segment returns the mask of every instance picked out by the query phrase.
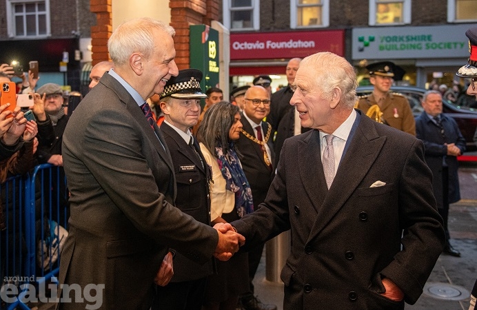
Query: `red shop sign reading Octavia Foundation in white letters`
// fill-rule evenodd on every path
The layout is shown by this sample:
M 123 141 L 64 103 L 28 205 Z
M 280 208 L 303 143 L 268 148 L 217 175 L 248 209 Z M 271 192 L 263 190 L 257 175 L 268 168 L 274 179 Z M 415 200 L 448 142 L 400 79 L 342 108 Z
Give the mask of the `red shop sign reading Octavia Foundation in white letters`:
M 344 42 L 344 30 L 230 34 L 230 59 L 290 59 L 316 52 L 344 56 Z

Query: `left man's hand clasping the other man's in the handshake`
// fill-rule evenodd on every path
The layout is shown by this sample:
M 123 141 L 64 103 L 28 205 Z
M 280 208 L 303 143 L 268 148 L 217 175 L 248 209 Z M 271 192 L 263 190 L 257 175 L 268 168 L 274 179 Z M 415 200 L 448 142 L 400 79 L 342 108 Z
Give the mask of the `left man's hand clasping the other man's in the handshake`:
M 229 223 L 218 223 L 214 225 L 214 228 L 219 234 L 214 257 L 219 260 L 229 260 L 236 251 L 239 251 L 239 247 L 245 244 L 245 237 L 236 233 Z

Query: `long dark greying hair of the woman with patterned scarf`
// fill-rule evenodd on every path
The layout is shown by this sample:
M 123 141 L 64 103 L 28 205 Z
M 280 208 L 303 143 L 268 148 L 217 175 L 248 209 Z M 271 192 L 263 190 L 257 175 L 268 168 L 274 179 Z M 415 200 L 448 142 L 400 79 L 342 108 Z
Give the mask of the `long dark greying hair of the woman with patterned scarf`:
M 229 131 L 239 113 L 239 107 L 228 101 L 220 101 L 205 111 L 197 130 L 197 141 L 203 143 L 210 154 L 215 156 L 215 147 L 221 144 L 224 154 L 229 149 Z

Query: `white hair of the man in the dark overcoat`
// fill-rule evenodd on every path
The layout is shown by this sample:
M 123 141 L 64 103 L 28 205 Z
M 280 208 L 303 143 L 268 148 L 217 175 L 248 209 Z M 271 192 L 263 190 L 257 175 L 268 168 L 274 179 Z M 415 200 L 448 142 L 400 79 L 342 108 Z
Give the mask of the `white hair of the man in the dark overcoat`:
M 347 107 L 354 107 L 356 97 L 356 70 L 346 59 L 331 52 L 320 52 L 307 56 L 300 67 L 312 67 L 316 70 L 314 85 L 323 92 L 324 99 L 331 99 L 333 90 L 341 90 L 341 102 Z

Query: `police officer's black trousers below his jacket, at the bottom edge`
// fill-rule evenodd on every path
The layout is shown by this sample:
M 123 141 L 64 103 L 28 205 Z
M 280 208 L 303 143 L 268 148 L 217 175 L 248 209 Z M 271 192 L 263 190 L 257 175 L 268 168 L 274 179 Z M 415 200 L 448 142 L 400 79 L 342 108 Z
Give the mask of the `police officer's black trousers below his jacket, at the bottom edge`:
M 201 310 L 206 283 L 207 278 L 201 278 L 170 282 L 165 287 L 156 286 L 157 293 L 151 309 Z

